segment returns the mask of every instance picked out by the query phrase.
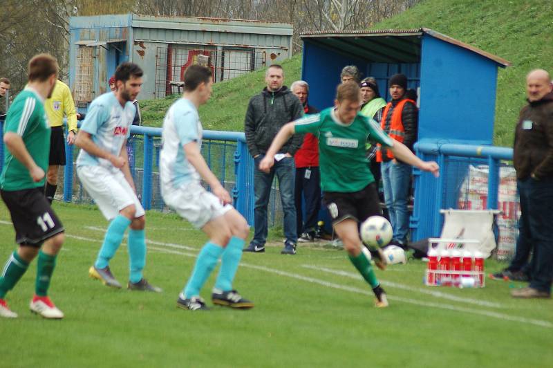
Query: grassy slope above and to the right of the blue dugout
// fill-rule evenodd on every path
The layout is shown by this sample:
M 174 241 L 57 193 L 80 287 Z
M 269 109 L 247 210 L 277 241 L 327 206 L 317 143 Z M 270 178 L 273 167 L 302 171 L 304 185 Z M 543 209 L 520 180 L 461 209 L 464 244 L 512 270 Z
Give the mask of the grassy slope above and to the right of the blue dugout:
M 552 25 L 550 0 L 426 0 L 375 28 L 424 26 L 512 62 L 499 71 L 494 131 L 495 144 L 510 147 L 526 73 L 553 72 Z

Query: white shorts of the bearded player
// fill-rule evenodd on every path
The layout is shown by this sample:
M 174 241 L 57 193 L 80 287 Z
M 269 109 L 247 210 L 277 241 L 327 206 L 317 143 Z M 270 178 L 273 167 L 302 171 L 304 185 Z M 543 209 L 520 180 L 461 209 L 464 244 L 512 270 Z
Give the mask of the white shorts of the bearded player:
M 144 208 L 131 185 L 120 170 L 111 171 L 102 166 L 77 167 L 82 186 L 91 195 L 108 221 L 115 219 L 120 210 L 134 205 L 134 217 L 144 216 Z

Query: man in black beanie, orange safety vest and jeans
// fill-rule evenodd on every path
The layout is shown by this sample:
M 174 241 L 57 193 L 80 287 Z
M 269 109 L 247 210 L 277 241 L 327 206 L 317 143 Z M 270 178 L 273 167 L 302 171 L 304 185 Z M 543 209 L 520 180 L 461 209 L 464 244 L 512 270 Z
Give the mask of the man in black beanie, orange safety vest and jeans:
M 415 101 L 405 97 L 407 77 L 395 74 L 390 78 L 389 86 L 392 100 L 384 108 L 380 127 L 386 134 L 413 151 L 413 145 L 417 140 L 418 109 Z M 409 233 L 407 204 L 411 166 L 395 158 L 389 149 L 382 146 L 377 152 L 377 161 L 381 163 L 384 202 L 393 228 L 391 243 L 405 248 Z

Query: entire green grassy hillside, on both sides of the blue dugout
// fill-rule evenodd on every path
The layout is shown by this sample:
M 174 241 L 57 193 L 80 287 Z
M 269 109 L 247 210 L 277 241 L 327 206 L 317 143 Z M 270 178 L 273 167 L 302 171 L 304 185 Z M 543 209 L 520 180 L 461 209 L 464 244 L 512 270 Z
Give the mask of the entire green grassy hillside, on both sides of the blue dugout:
M 525 103 L 525 74 L 538 67 L 553 71 L 552 4 L 550 0 L 426 0 L 373 28 L 433 28 L 512 62 L 499 71 L 495 129 L 496 145 L 511 146 L 512 126 Z M 289 82 L 299 78 L 301 55 L 283 66 Z M 216 84 L 212 100 L 200 109 L 205 129 L 242 131 L 247 101 L 262 88 L 263 71 Z M 147 124 L 160 126 L 173 100 L 144 102 Z

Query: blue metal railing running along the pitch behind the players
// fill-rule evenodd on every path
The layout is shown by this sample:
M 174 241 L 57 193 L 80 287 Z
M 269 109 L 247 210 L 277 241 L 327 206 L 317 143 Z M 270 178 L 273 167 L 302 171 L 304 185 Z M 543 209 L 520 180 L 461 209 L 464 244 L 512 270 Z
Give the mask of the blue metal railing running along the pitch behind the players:
M 3 122 L 0 121 L 3 128 Z M 165 210 L 159 193 L 158 164 L 160 128 L 131 127 L 133 159 L 129 159 L 131 173 L 144 208 Z M 0 129 L 0 169 L 3 165 L 3 129 Z M 501 160 L 512 160 L 513 150 L 506 147 L 460 145 L 455 143 L 418 142 L 418 156 L 435 160 L 441 168 L 440 178 L 415 169 L 415 206 L 411 217 L 411 239 L 418 241 L 440 234 L 443 224 L 441 209 L 457 208 L 462 182 L 467 178 L 469 165 L 488 165 L 486 207 L 498 207 L 499 168 Z M 63 179 L 63 200 L 81 202 L 86 197 L 75 177 L 75 148 L 66 145 L 66 166 Z M 234 207 L 248 223 L 254 224 L 254 160 L 250 156 L 243 133 L 227 131 L 203 132 L 203 156 L 207 164 L 232 194 Z M 75 195 L 75 190 L 78 194 Z M 273 187 L 268 214 L 269 223 L 280 223 L 281 210 L 277 204 L 277 190 Z

